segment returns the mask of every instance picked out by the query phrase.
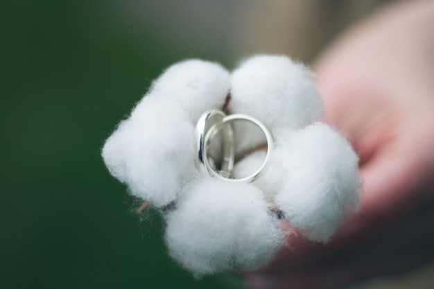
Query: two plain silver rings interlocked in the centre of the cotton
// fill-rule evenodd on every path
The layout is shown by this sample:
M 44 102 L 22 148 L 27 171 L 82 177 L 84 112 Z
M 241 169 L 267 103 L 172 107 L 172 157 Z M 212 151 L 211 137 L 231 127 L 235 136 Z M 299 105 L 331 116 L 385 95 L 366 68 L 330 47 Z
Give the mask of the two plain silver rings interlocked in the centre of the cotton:
M 236 155 L 236 141 L 232 126 L 235 121 L 247 121 L 257 125 L 265 135 L 267 142 L 267 153 L 261 166 L 250 175 L 241 178 L 235 178 L 232 174 Z M 211 141 L 217 135 L 220 136 L 219 150 L 221 153 L 213 157 L 210 155 Z M 196 164 L 205 168 L 209 175 L 229 182 L 253 182 L 260 177 L 268 165 L 273 150 L 272 136 L 266 126 L 254 117 L 245 114 L 226 115 L 220 110 L 209 110 L 200 116 L 194 137 L 197 152 Z

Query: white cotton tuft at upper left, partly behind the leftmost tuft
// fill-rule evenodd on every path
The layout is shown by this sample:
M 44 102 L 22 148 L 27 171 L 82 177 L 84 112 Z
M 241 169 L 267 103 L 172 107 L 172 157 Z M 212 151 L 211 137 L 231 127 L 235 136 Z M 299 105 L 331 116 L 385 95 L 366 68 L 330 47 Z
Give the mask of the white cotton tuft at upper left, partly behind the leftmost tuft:
M 151 87 L 150 96 L 179 103 L 196 124 L 207 110 L 223 108 L 229 94 L 230 76 L 220 64 L 186 60 L 172 65 Z

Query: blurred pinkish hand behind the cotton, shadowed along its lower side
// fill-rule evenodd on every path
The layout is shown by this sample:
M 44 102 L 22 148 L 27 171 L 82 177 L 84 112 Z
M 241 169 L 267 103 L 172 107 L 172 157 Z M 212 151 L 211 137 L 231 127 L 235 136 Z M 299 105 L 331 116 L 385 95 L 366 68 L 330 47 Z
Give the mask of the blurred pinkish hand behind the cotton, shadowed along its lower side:
M 255 288 L 336 288 L 434 259 L 434 1 L 386 6 L 313 67 L 324 121 L 361 158 L 361 209 L 327 244 L 295 231 Z

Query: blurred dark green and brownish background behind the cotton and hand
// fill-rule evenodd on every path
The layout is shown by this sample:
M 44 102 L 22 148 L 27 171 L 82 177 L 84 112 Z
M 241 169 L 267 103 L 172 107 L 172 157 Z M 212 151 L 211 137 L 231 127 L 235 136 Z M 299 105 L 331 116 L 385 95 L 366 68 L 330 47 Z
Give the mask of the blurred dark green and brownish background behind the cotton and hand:
M 0 288 L 241 288 L 173 262 L 155 211 L 100 150 L 173 62 L 252 53 L 311 63 L 385 1 L 0 3 Z

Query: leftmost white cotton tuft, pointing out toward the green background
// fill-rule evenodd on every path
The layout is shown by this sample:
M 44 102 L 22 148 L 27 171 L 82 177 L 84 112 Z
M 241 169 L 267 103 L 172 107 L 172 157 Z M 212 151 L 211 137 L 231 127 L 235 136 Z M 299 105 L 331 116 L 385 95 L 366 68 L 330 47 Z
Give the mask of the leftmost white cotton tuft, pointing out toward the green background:
M 179 105 L 145 97 L 107 139 L 103 159 L 133 195 L 162 207 L 195 173 L 192 135 Z

